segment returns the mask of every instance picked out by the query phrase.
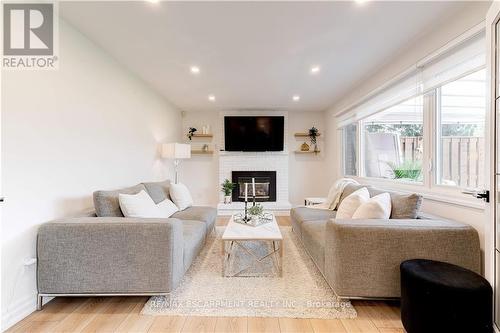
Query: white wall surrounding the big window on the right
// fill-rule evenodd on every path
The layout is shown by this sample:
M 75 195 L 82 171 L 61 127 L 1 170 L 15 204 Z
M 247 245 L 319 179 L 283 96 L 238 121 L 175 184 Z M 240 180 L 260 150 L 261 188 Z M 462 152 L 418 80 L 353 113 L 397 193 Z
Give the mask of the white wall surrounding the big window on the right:
M 377 72 L 373 73 L 373 75 L 368 76 L 366 80 L 353 87 L 350 94 L 326 111 L 326 141 L 328 147 L 330 147 L 327 155 L 327 164 L 328 169 L 332 170 L 332 172 L 329 172 L 329 175 L 332 175 L 331 180 L 341 177 L 340 161 L 342 147 L 340 132 L 336 130 L 335 114 L 359 101 L 371 91 L 377 89 L 399 73 L 404 72 L 419 60 L 438 50 L 468 29 L 480 24 L 486 17 L 489 5 L 486 2 L 476 2 L 468 5 L 451 20 L 443 21 L 439 28 L 428 32 L 418 40 L 410 41 L 410 46 L 406 50 L 390 59 L 386 66 L 383 66 Z M 487 221 L 487 214 L 484 210 L 430 199 L 424 200 L 422 209 L 428 213 L 455 219 L 474 226 L 479 233 L 481 248 L 484 251 L 484 227 Z

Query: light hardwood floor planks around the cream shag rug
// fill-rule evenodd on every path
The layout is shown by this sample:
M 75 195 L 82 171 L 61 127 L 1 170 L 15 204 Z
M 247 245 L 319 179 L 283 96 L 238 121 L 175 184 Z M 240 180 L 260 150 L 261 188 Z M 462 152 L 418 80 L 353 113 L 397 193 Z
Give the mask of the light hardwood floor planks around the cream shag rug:
M 227 223 L 219 218 L 218 225 Z M 278 223 L 290 225 L 288 217 Z M 148 297 L 56 298 L 11 327 L 12 333 L 403 333 L 396 302 L 352 301 L 355 319 L 294 319 L 253 317 L 145 316 L 140 311 Z

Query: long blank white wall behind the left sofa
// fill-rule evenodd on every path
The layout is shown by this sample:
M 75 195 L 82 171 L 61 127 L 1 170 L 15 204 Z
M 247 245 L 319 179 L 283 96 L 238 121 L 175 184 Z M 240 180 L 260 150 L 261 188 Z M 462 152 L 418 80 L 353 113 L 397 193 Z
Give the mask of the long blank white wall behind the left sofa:
M 57 71 L 2 72 L 2 326 L 35 309 L 40 223 L 92 209 L 92 192 L 171 176 L 160 142 L 180 112 L 67 23 Z

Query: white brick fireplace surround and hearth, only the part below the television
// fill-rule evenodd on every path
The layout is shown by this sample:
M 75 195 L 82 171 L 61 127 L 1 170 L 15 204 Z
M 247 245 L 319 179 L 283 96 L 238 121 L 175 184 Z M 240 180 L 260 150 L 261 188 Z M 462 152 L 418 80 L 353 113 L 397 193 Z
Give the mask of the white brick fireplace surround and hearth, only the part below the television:
M 276 215 L 288 215 L 288 152 L 224 152 L 219 154 L 219 184 L 231 180 L 233 171 L 276 171 L 276 202 L 261 202 Z M 223 201 L 221 193 L 219 202 Z M 219 203 L 219 215 L 231 215 L 243 209 L 243 202 Z

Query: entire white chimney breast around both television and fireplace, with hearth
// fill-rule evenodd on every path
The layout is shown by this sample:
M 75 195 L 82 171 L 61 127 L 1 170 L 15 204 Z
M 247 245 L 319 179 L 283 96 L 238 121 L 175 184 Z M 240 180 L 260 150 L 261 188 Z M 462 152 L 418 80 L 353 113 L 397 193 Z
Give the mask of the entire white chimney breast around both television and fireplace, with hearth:
M 221 112 L 218 131 L 220 147 L 224 147 L 224 116 L 284 116 L 284 151 L 282 152 L 219 152 L 219 184 L 224 179 L 232 179 L 233 171 L 276 171 L 276 202 L 261 202 L 264 209 L 273 211 L 276 215 L 289 215 L 292 205 L 288 193 L 288 113 L 287 112 Z M 223 204 L 224 196 L 219 195 L 217 205 L 219 215 L 231 215 L 241 212 L 243 202 Z

